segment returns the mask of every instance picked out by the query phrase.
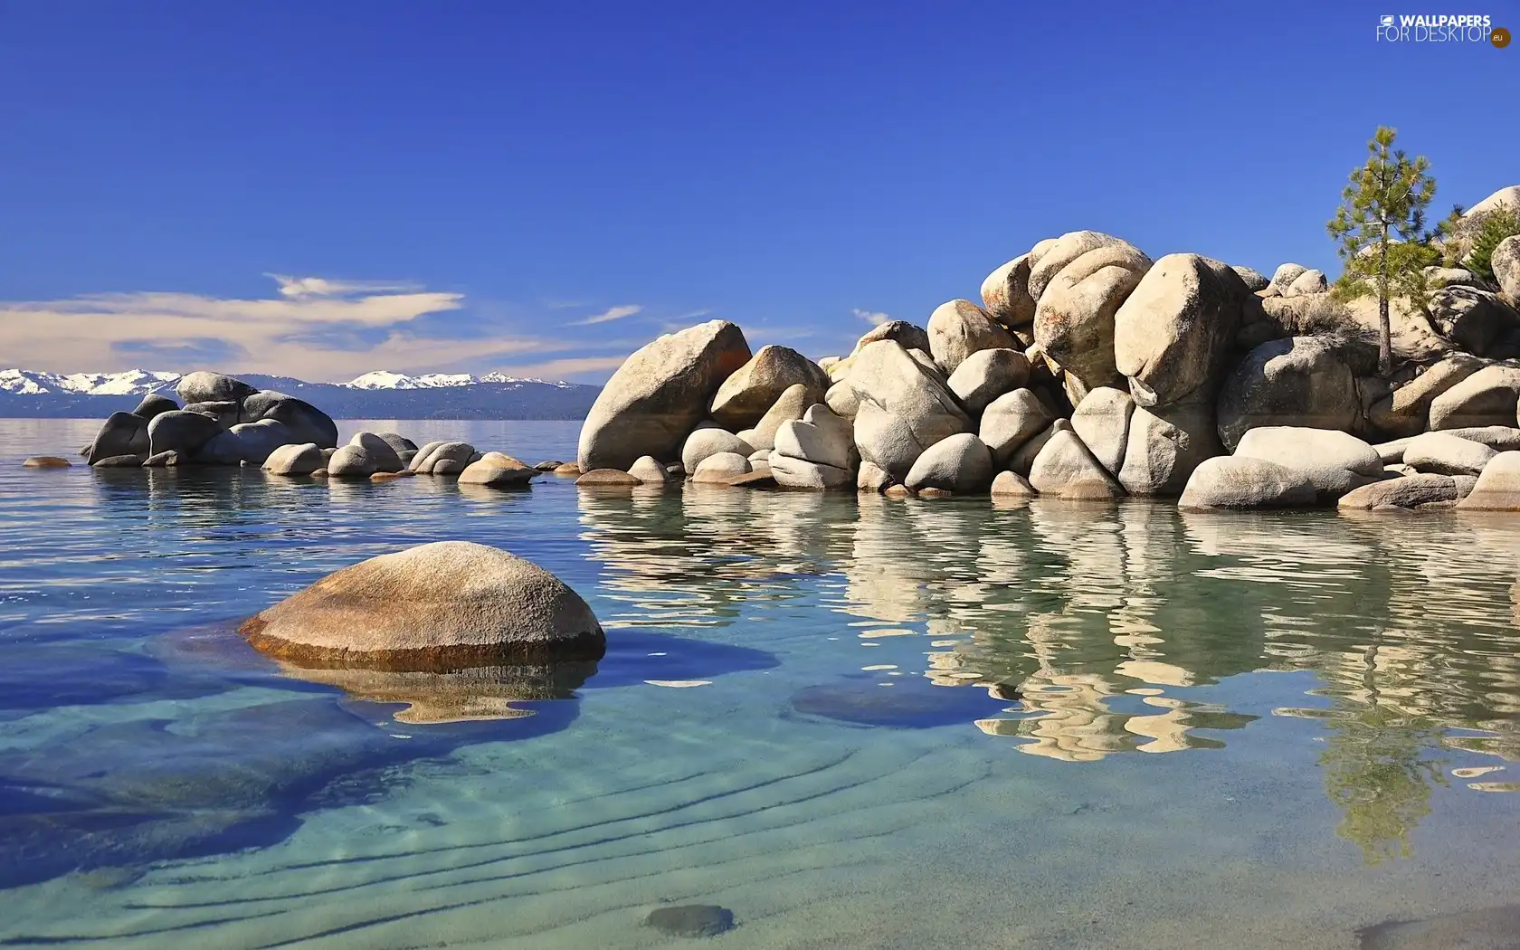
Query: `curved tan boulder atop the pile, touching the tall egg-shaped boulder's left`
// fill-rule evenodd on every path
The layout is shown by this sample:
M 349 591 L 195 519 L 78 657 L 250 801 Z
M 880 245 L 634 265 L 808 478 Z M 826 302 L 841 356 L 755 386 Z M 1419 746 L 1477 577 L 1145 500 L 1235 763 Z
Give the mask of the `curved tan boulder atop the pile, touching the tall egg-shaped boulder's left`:
M 1035 344 L 1085 389 L 1122 380 L 1114 365 L 1114 315 L 1151 258 L 1117 242 L 1087 251 L 1046 284 L 1035 307 Z

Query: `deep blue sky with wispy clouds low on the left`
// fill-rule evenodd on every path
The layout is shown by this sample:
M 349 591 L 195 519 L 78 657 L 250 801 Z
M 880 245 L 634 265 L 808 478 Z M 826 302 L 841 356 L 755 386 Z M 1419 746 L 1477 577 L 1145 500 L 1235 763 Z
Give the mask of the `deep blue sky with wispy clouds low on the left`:
M 1333 274 L 1379 123 L 1441 208 L 1520 182 L 1520 46 L 1386 12 L 1439 11 L 0 0 L 0 365 L 600 382 L 713 316 L 816 357 L 1078 228 Z

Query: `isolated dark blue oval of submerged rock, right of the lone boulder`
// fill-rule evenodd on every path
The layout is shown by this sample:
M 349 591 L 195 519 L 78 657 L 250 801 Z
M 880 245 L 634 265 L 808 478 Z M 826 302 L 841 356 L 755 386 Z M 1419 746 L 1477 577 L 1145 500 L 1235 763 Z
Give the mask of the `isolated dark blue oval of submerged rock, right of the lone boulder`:
M 792 708 L 856 725 L 923 730 L 936 725 L 970 725 L 996 716 L 1014 698 L 993 698 L 985 689 L 935 686 L 923 676 L 898 676 L 891 686 L 871 678 L 844 678 L 798 690 Z

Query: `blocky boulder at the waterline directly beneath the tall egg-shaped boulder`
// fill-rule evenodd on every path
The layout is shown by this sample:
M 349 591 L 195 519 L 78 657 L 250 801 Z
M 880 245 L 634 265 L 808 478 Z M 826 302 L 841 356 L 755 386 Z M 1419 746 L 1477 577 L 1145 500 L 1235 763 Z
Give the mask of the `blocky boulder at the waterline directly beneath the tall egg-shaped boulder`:
M 1169 406 L 1135 406 L 1119 483 L 1132 496 L 1175 497 L 1201 462 L 1222 451 L 1213 400 L 1202 394 Z

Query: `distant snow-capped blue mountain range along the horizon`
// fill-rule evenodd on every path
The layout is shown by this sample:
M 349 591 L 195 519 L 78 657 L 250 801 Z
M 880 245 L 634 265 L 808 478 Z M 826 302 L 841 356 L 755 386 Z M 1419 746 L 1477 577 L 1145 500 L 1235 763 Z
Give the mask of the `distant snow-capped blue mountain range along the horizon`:
M 366 372 L 347 383 L 307 383 L 240 374 L 260 389 L 301 397 L 333 418 L 371 420 L 581 420 L 600 386 L 485 375 Z M 36 372 L 0 369 L 0 416 L 103 418 L 149 392 L 173 395 L 178 372 Z

